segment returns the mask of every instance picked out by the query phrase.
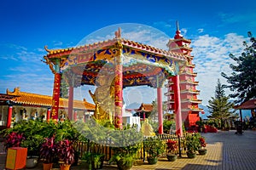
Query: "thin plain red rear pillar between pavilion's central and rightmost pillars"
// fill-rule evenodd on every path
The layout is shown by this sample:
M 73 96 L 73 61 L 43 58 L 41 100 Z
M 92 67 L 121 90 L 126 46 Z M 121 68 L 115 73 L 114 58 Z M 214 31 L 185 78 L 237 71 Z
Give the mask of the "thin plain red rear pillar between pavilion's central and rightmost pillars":
M 157 88 L 157 110 L 158 110 L 158 133 L 162 134 L 162 133 L 164 133 L 162 88 Z

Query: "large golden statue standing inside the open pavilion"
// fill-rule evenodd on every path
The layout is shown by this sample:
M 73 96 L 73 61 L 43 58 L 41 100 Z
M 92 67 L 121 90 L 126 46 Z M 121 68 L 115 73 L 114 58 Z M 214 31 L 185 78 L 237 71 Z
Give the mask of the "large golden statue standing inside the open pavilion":
M 113 122 L 114 86 L 112 80 L 113 78 L 111 76 L 100 75 L 96 79 L 98 87 L 95 93 L 92 94 L 89 90 L 89 94 L 96 105 L 94 117 L 97 120 L 109 120 Z

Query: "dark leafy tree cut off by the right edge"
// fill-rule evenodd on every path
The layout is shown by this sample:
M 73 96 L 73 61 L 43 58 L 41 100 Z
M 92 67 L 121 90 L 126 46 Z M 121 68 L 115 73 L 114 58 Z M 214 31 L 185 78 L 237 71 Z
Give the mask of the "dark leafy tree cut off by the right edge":
M 256 97 L 256 40 L 250 31 L 248 37 L 250 42 L 249 44 L 243 42 L 245 48 L 241 56 L 236 57 L 230 54 L 230 58 L 236 61 L 236 65 L 230 65 L 233 71 L 231 76 L 221 73 L 222 77 L 230 83 L 225 86 L 233 92 L 230 98 L 236 99 L 237 104 Z

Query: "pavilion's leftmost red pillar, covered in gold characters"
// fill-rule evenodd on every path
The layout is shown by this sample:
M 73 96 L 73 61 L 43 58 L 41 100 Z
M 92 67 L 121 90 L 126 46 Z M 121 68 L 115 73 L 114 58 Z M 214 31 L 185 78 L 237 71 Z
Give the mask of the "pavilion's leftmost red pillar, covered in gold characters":
M 61 93 L 61 74 L 55 73 L 55 83 L 54 90 L 52 96 L 52 110 L 51 110 L 51 118 L 53 120 L 58 120 L 58 111 L 59 111 L 59 103 L 60 103 L 60 93 Z

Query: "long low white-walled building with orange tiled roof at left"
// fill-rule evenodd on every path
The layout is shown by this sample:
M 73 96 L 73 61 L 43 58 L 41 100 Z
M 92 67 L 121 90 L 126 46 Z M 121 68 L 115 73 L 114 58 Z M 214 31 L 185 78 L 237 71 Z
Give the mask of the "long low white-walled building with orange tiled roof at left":
M 67 99 L 60 98 L 59 119 L 67 118 Z M 19 120 L 47 119 L 48 111 L 52 105 L 52 96 L 42 94 L 30 94 L 21 92 L 15 88 L 13 92 L 6 90 L 6 94 L 0 94 L 0 126 L 6 127 L 9 112 L 12 122 Z M 95 111 L 95 105 L 84 101 L 73 100 L 73 121 L 86 121 Z

